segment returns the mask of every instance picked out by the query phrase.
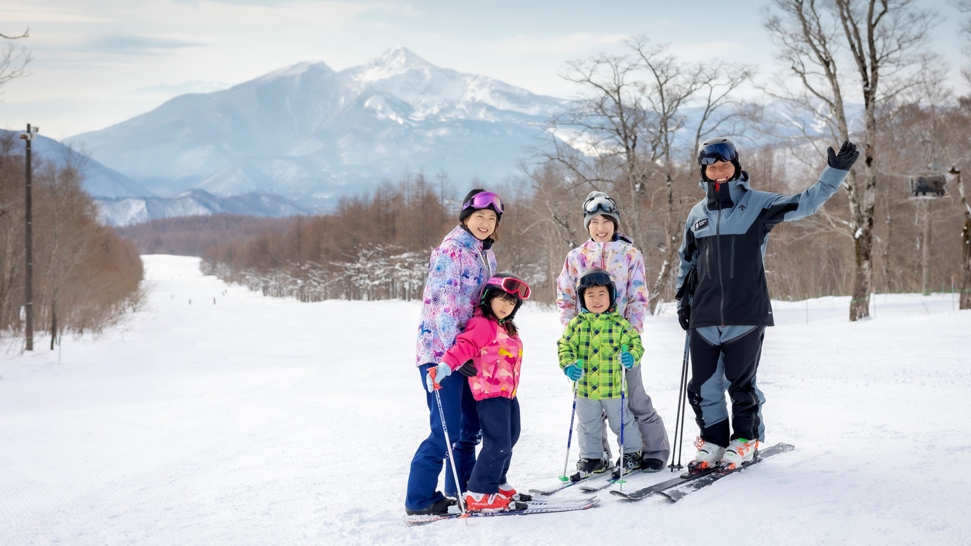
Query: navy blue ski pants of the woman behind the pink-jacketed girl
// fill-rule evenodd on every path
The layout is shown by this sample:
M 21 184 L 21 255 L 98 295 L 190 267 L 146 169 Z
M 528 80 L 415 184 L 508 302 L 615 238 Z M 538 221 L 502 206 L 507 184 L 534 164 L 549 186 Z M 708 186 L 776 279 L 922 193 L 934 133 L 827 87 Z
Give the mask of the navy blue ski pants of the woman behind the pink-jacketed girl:
M 428 403 L 428 425 L 431 433 L 421 442 L 415 458 L 412 459 L 411 472 L 408 474 L 408 493 L 405 496 L 405 508 L 408 510 L 421 510 L 444 497 L 438 491 L 438 478 L 442 473 L 443 463 L 446 466 L 445 495 L 458 495 L 452 476 L 452 465 L 447 461 L 449 452 L 445 443 L 445 432 L 442 430 L 442 418 L 438 413 L 438 402 L 434 392 L 425 390 L 425 375 L 433 367 L 435 364 L 432 363 L 418 366 L 421 390 L 425 392 Z M 466 484 L 476 463 L 476 445 L 479 444 L 476 400 L 469 390 L 467 378 L 460 373 L 452 373 L 440 381 L 439 385 L 442 386 L 438 393 L 442 398 L 442 411 L 445 414 L 446 427 L 449 428 L 449 439 L 452 440 L 455 468 L 462 483 L 462 491 L 467 491 Z

